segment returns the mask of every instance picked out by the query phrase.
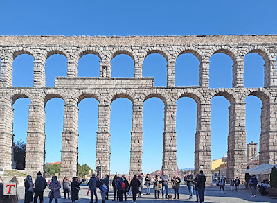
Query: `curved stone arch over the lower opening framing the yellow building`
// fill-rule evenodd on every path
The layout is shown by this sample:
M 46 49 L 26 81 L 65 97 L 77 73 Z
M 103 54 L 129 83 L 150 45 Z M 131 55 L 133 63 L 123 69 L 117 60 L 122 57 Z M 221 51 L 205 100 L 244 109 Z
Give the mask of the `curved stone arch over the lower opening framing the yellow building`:
M 211 99 L 214 96 L 224 96 L 227 100 L 229 100 L 229 103 L 237 103 L 239 101 L 238 94 L 233 91 L 233 89 L 227 89 L 227 88 L 219 88 L 219 89 L 214 89 L 213 91 L 210 92 L 208 95 L 208 100 L 211 103 Z

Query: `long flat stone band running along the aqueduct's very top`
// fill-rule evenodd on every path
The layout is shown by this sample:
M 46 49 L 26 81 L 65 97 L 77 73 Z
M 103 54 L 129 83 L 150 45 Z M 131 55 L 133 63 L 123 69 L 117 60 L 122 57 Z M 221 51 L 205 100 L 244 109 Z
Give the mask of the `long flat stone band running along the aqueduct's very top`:
M 0 44 L 260 44 L 277 43 L 277 35 L 197 35 L 197 36 L 0 36 Z

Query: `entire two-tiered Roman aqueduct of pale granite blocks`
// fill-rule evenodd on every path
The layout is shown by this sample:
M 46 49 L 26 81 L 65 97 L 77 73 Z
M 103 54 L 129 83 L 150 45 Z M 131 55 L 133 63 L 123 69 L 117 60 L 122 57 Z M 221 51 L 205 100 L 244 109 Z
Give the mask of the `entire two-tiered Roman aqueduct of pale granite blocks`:
M 12 87 L 12 62 L 21 54 L 32 55 L 34 61 L 33 87 Z M 53 54 L 67 58 L 67 77 L 56 77 L 55 87 L 45 87 L 45 62 Z M 77 77 L 77 63 L 82 55 L 92 53 L 100 58 L 100 77 Z M 167 87 L 154 87 L 154 78 L 142 77 L 143 60 L 159 53 L 166 58 Z M 199 86 L 175 87 L 175 62 L 179 55 L 192 53 L 200 62 Z M 215 53 L 226 53 L 233 60 L 233 88 L 211 89 L 209 59 Z M 244 56 L 258 53 L 265 60 L 265 86 L 244 88 Z M 111 78 L 111 59 L 127 54 L 134 60 L 133 78 Z M 12 168 L 12 105 L 19 98 L 29 98 L 29 120 L 26 150 L 26 173 L 44 170 L 45 110 L 51 98 L 64 100 L 61 173 L 76 175 L 78 157 L 78 103 L 84 98 L 96 98 L 98 132 L 96 169 L 103 165 L 109 173 L 110 105 L 116 98 L 128 98 L 133 104 L 130 174 L 142 170 L 143 102 L 157 97 L 163 100 L 163 170 L 171 176 L 177 170 L 176 102 L 190 97 L 197 103 L 195 134 L 195 170 L 204 170 L 211 182 L 211 103 L 214 96 L 229 100 L 229 135 L 227 175 L 243 177 L 246 167 L 245 103 L 253 95 L 262 101 L 260 164 L 277 161 L 277 36 L 163 36 L 163 37 L 87 37 L 87 36 L 1 36 L 0 37 L 0 168 Z

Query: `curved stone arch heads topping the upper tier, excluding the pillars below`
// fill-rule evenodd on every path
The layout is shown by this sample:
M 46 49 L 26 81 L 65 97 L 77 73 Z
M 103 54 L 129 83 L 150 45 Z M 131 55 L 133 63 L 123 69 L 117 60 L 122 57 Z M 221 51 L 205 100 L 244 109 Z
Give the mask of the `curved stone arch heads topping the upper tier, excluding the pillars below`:
M 32 55 L 35 60 L 46 60 L 51 55 L 60 54 L 64 55 L 72 62 L 72 60 L 78 61 L 83 55 L 87 54 L 97 55 L 100 60 L 103 61 L 111 61 L 117 55 L 126 54 L 129 55 L 135 63 L 141 62 L 140 60 L 144 60 L 152 53 L 159 53 L 170 62 L 176 60 L 179 55 L 184 53 L 191 53 L 195 55 L 200 62 L 208 61 L 209 58 L 211 58 L 211 56 L 215 53 L 225 53 L 230 56 L 233 62 L 243 60 L 243 58 L 249 53 L 258 53 L 265 61 L 274 60 L 277 58 L 277 47 L 273 52 L 267 50 L 265 46 L 260 45 L 237 49 L 232 48 L 231 46 L 212 46 L 208 50 L 205 48 L 197 48 L 197 46 L 181 46 L 180 48 L 172 49 L 170 47 L 150 46 L 144 49 L 133 49 L 121 46 L 112 49 L 105 48 L 105 51 L 102 51 L 102 49 L 98 47 L 82 47 L 72 51 L 71 49 L 67 50 L 66 48 L 62 48 L 60 46 L 53 46 L 46 49 L 17 47 L 12 49 L 0 49 L 0 57 L 3 58 L 8 55 L 15 59 L 18 55 L 26 53 L 28 55 Z

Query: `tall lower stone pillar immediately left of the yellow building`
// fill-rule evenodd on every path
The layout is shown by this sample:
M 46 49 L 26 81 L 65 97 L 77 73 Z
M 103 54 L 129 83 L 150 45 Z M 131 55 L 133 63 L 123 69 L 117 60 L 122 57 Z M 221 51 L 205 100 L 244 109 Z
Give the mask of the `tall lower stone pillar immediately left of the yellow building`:
M 211 184 L 211 104 L 197 105 L 195 134 L 195 174 L 203 170 L 206 184 Z

